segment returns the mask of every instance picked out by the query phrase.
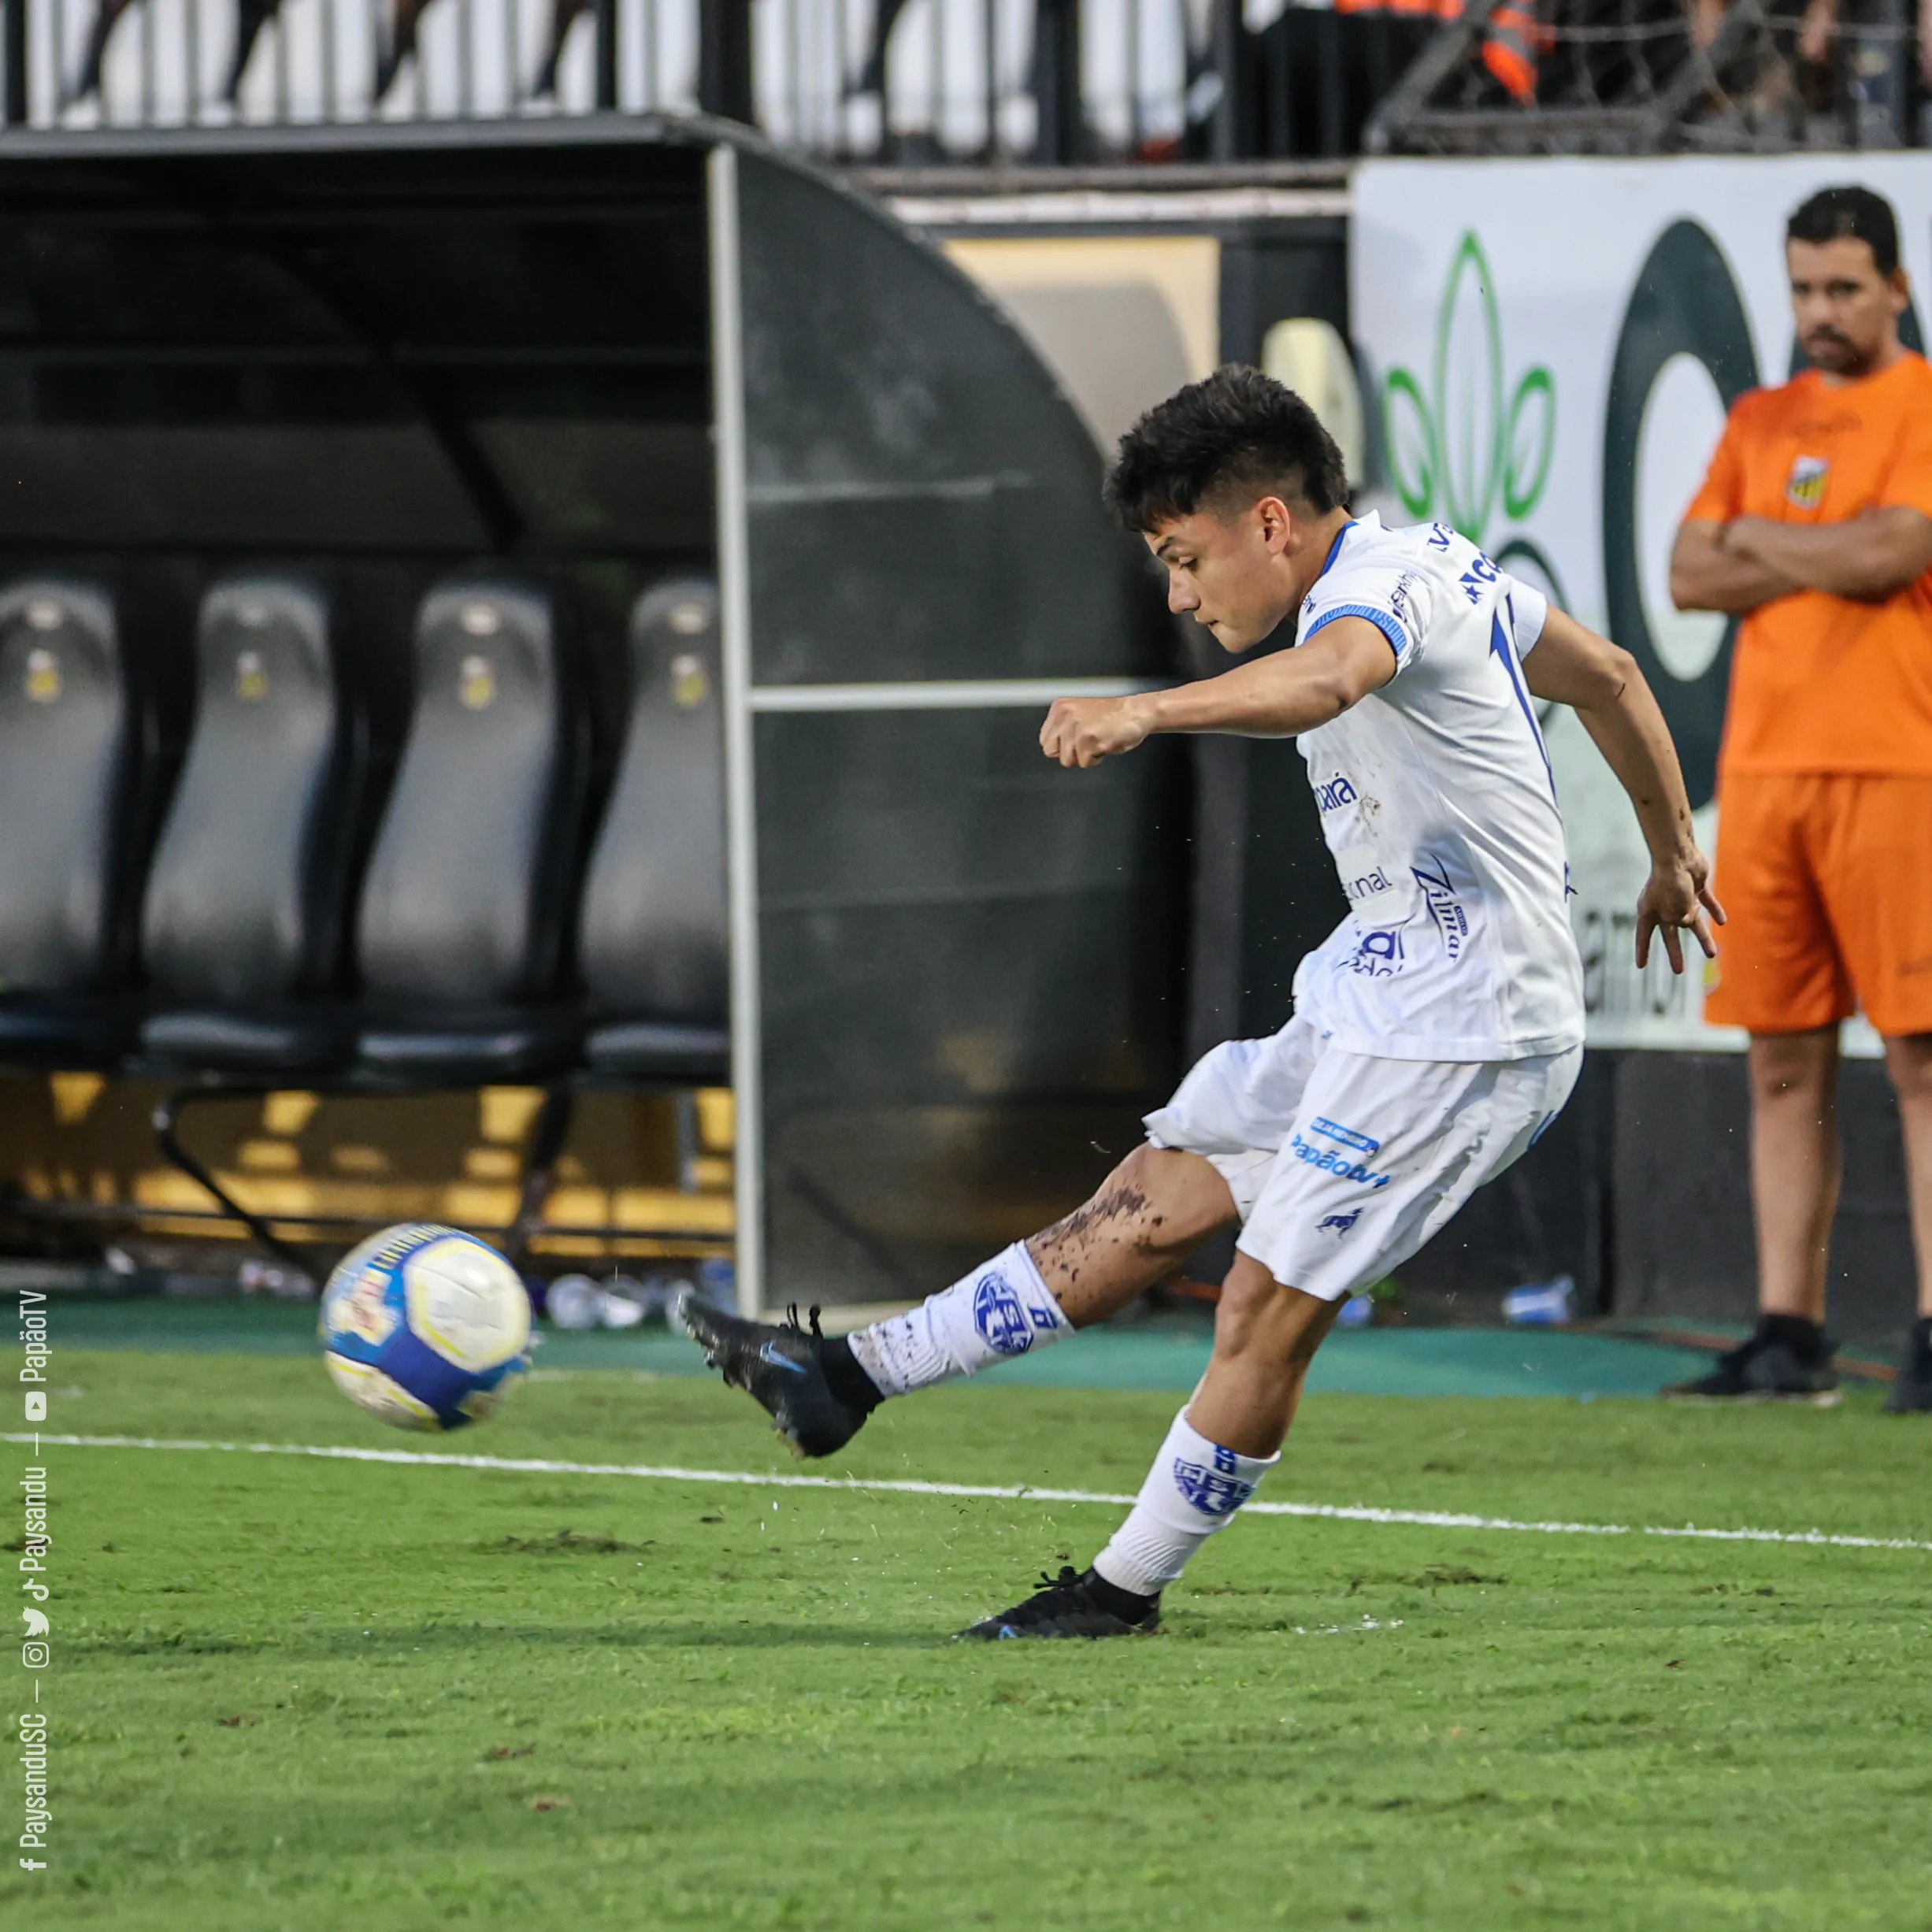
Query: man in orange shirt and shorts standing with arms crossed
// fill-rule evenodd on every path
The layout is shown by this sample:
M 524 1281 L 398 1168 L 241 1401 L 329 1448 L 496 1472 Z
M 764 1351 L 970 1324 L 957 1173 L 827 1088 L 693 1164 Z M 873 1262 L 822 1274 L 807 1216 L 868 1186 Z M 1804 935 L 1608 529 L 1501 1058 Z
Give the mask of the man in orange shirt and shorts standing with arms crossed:
M 1679 609 L 1745 618 L 1718 781 L 1729 925 L 1704 1012 L 1750 1032 L 1760 1306 L 1743 1347 L 1671 1393 L 1837 1399 L 1837 1030 L 1862 1005 L 1918 1256 L 1888 1406 L 1932 1410 L 1932 367 L 1899 342 L 1889 203 L 1812 195 L 1785 257 L 1812 367 L 1737 400 L 1671 553 Z

